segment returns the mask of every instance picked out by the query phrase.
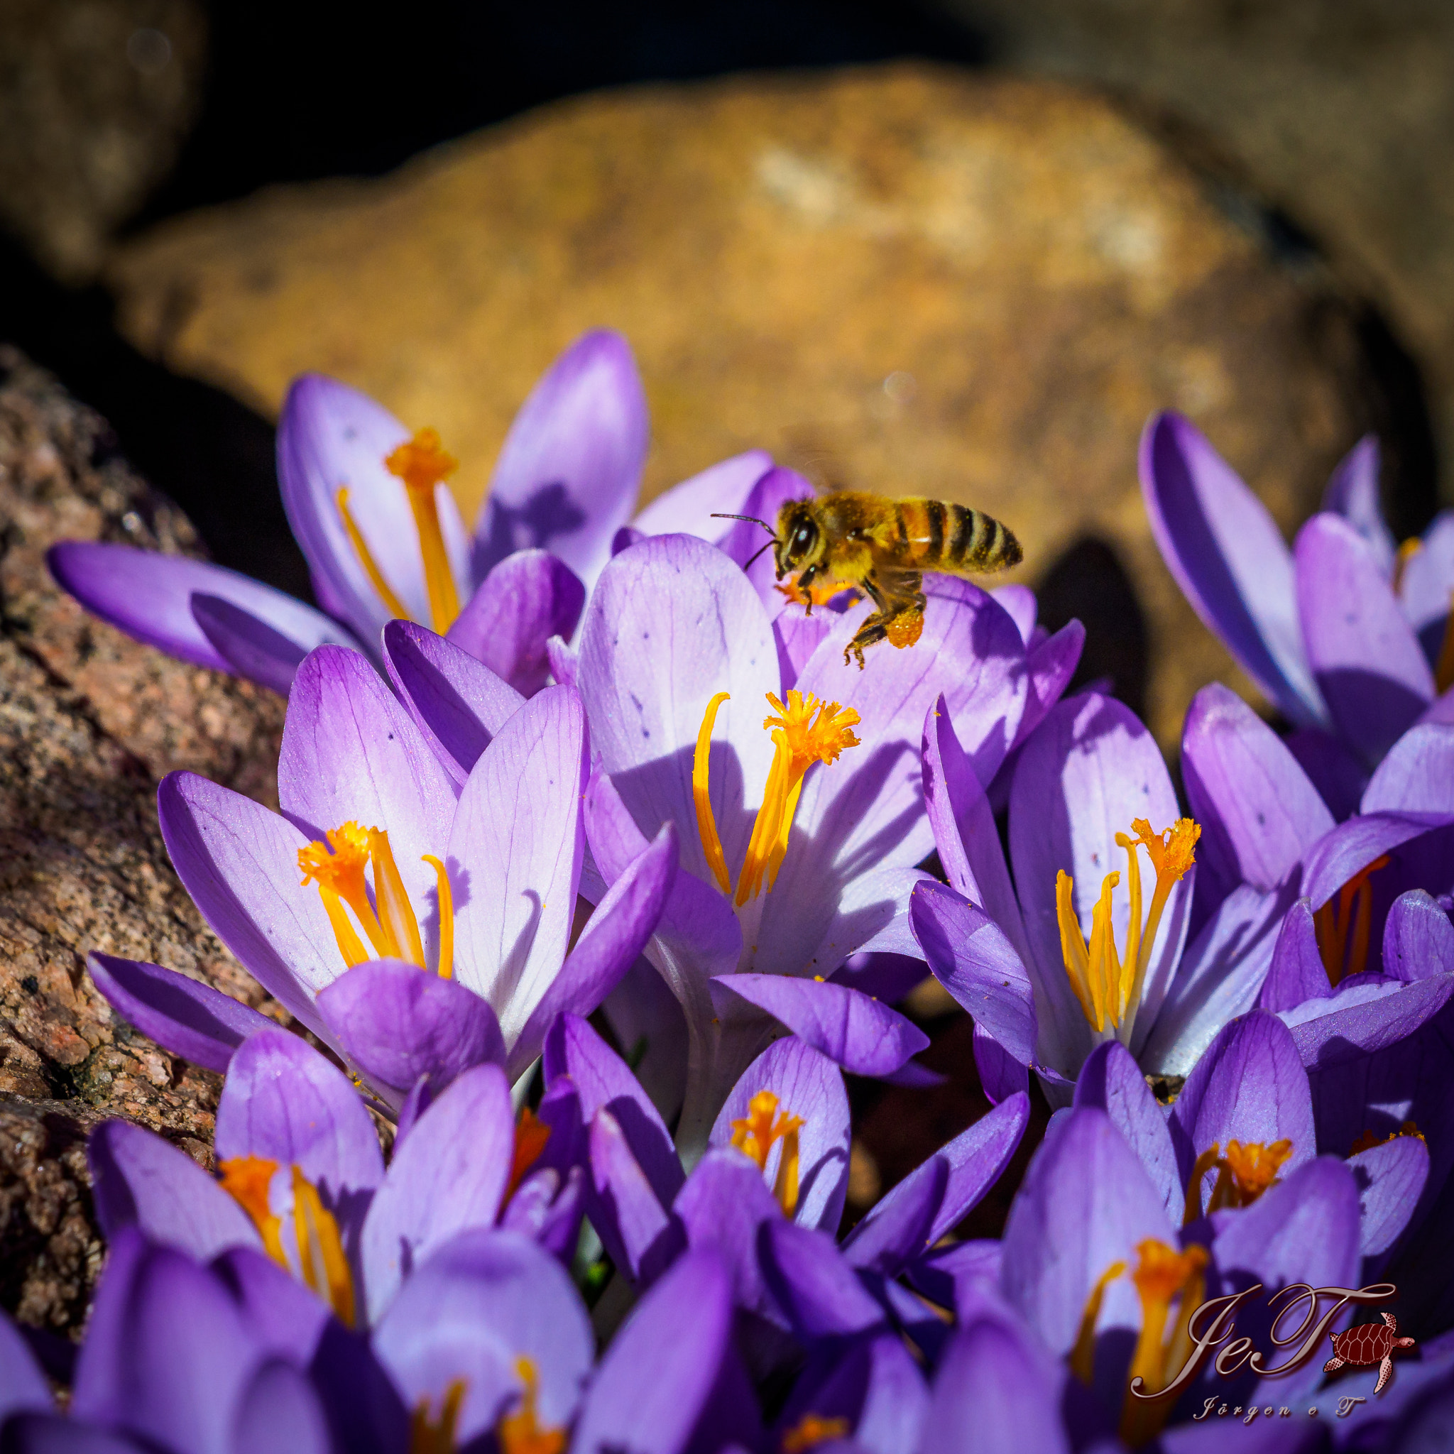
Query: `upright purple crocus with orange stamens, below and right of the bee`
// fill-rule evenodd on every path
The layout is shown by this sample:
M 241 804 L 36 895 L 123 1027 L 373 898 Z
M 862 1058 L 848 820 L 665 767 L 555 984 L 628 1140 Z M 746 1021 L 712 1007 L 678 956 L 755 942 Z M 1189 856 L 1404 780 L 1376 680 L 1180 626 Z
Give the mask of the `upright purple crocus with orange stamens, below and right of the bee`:
M 1243 896 L 1186 947 L 1198 827 L 1136 715 L 1090 692 L 1054 707 L 1025 743 L 1009 800 L 1013 885 L 945 701 L 925 720 L 923 775 L 949 883 L 915 887 L 912 926 L 974 1016 L 990 1096 L 1022 1089 L 1032 1067 L 1064 1101 L 1108 1040 L 1144 1070 L 1184 1075 L 1234 1013 L 1208 980 L 1261 983 L 1280 912 Z

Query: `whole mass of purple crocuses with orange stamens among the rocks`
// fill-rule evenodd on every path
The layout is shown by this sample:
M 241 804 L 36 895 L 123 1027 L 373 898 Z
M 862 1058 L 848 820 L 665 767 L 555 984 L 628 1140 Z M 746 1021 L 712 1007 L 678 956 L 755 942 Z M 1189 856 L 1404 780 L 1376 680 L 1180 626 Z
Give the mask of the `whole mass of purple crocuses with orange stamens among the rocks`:
M 869 603 L 784 587 L 714 519 L 808 483 L 753 452 L 632 519 L 646 438 L 589 334 L 470 539 L 436 436 L 304 379 L 279 473 L 326 615 L 52 557 L 288 694 L 278 813 L 190 774 L 158 813 L 314 1045 L 90 957 L 225 1073 L 217 1166 L 93 1134 L 111 1252 L 70 1402 L 0 1325 L 0 1450 L 1426 1447 L 1454 1407 L 1445 525 L 1393 547 L 1365 443 L 1290 554 L 1153 420 L 1157 539 L 1296 727 L 1204 689 L 1179 798 L 1128 708 L 1064 695 L 1083 632 L 1031 592 L 931 576 L 917 643 L 859 672 Z M 845 1073 L 936 1079 L 888 1003 L 925 970 L 990 1109 L 845 1233 Z M 1037 1101 L 1003 1234 L 961 1240 Z M 1415 1346 L 1375 1393 L 1325 1375 L 1358 1307 L 1312 1290 L 1384 1284 Z M 1288 1303 L 1313 1332 L 1280 1362 Z

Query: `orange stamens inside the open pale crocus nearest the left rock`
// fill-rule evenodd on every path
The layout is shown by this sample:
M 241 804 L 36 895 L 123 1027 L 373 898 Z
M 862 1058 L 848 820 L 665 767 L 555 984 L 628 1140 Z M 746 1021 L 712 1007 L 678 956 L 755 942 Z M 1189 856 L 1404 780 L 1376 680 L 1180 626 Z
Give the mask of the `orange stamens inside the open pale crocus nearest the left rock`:
M 350 822 L 332 829 L 327 839 L 327 843 L 316 840 L 307 848 L 300 848 L 298 868 L 302 871 L 302 887 L 310 883 L 318 885 L 343 961 L 353 968 L 375 958 L 407 960 L 410 964 L 427 968 L 419 917 L 409 901 L 398 864 L 394 862 L 393 849 L 388 846 L 388 832 Z M 432 853 L 426 853 L 423 861 L 433 868 L 439 883 L 438 973 L 441 979 L 449 979 L 454 973 L 454 897 L 449 891 L 449 875 L 445 872 L 445 865 Z M 374 901 L 369 900 L 364 878 L 366 864 L 374 867 Z M 364 933 L 368 935 L 372 954 L 364 947 L 345 904 L 353 910 Z

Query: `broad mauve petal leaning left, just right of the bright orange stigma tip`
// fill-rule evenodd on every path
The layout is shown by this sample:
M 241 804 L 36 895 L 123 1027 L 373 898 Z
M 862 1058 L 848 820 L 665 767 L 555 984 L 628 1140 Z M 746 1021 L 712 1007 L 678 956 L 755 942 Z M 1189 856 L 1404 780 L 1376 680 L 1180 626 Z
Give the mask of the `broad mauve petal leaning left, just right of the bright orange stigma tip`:
M 1200 852 L 1229 885 L 1274 888 L 1333 826 L 1317 790 L 1277 733 L 1220 682 L 1192 699 L 1182 775 Z

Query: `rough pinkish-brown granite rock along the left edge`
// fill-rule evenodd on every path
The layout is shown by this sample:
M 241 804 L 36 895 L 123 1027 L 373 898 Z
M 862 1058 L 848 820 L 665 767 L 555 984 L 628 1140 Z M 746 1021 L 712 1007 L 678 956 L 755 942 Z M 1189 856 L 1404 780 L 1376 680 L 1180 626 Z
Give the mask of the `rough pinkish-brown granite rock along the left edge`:
M 172 872 L 156 784 L 273 800 L 282 701 L 87 618 L 45 571 L 64 537 L 199 551 L 105 423 L 0 348 L 0 1306 L 74 1330 L 100 1258 L 86 1130 L 125 1115 L 206 1162 L 220 1086 L 115 1018 L 86 954 L 265 1005 Z

